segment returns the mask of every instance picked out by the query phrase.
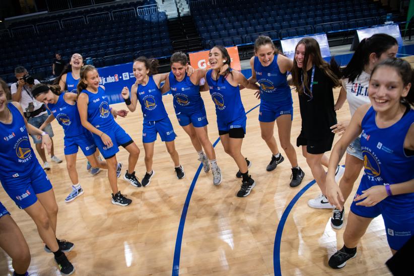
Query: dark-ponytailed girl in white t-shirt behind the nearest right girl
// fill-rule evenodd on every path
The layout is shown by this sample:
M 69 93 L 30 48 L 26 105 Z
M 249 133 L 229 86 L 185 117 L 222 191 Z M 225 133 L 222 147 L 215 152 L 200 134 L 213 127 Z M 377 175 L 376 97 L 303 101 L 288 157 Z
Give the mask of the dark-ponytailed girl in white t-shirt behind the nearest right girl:
M 361 40 L 350 62 L 343 70 L 342 86 L 346 93 L 343 89 L 340 91 L 338 101 L 335 104 L 335 110 L 341 108 L 347 99 L 351 116 L 353 116 L 358 107 L 370 103 L 368 83 L 371 71 L 380 61 L 395 57 L 397 51 L 397 40 L 387 34 L 374 34 L 369 38 Z M 348 123 L 349 121 L 338 122 L 336 125 L 333 125 L 333 132 L 340 135 L 346 129 Z M 339 182 L 339 188 L 345 201 L 351 194 L 354 182 L 357 180 L 363 167 L 360 137 L 357 137 L 347 149 L 345 172 Z M 326 187 L 327 195 L 335 191 L 335 187 Z M 336 206 L 332 213 L 331 226 L 335 229 L 340 229 L 343 225 L 344 202 L 341 203 L 342 206 Z

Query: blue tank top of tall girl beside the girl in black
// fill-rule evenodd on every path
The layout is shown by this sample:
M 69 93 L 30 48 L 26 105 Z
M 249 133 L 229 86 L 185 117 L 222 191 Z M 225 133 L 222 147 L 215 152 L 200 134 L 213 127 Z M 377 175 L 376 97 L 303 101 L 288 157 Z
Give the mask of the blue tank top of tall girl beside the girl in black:
M 279 70 L 278 55 L 275 55 L 269 66 L 261 65 L 259 58 L 254 57 L 254 71 L 260 85 L 260 100 L 278 104 L 292 104 L 291 88 L 287 74 Z

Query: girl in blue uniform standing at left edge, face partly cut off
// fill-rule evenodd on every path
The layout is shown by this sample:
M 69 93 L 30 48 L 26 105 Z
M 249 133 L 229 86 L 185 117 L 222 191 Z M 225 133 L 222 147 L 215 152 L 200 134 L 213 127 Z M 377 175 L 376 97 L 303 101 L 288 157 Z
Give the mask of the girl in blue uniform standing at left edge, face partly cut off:
M 71 251 L 74 244 L 56 239 L 58 208 L 52 184 L 37 161 L 29 142 L 29 134 L 41 135 L 41 147 L 46 146 L 50 153 L 50 137 L 46 132 L 27 123 L 19 103 L 9 104 L 7 102 L 6 91 L 8 87 L 3 81 L 0 81 L 0 84 L 0 133 L 3 136 L 3 139 L 0 139 L 0 163 L 2 164 L 0 182 L 16 205 L 35 222 L 39 236 L 46 244 L 45 251 L 53 252 L 60 272 L 64 275 L 70 275 L 75 271 L 75 268 L 63 252 Z M 3 215 L 7 215 L 7 211 L 2 209 L 1 214 L 0 217 L 3 217 Z M 0 218 L 0 221 L 2 220 L 4 218 Z M 1 222 L 0 225 L 2 225 Z M 0 234 L 0 244 L 2 244 L 3 239 L 10 235 L 3 233 L 1 228 Z M 20 243 L 22 238 L 18 237 Z M 18 249 L 20 250 L 20 248 Z M 26 251 L 26 249 L 23 246 L 21 250 Z M 30 259 L 25 262 L 30 262 Z M 26 265 L 28 264 L 25 264 L 24 267 Z M 24 267 L 22 268 L 24 269 Z

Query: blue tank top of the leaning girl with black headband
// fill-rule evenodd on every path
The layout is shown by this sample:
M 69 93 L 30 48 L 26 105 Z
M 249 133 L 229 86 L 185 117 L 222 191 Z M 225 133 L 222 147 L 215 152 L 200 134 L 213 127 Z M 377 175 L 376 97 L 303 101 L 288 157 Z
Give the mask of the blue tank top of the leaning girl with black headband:
M 47 104 L 47 107 L 56 118 L 57 122 L 63 127 L 65 137 L 77 136 L 85 132 L 79 116 L 78 106 L 65 102 L 64 93 L 59 95 L 55 104 Z

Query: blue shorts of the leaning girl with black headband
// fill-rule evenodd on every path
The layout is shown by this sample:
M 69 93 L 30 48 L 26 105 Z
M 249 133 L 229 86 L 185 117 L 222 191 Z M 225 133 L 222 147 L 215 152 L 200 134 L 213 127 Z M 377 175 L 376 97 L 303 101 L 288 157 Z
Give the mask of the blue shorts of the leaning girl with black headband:
M 96 152 L 96 146 L 91 132 L 85 131 L 83 134 L 73 137 L 63 138 L 64 155 L 75 154 L 78 147 L 81 148 L 85 156 L 93 155 Z

